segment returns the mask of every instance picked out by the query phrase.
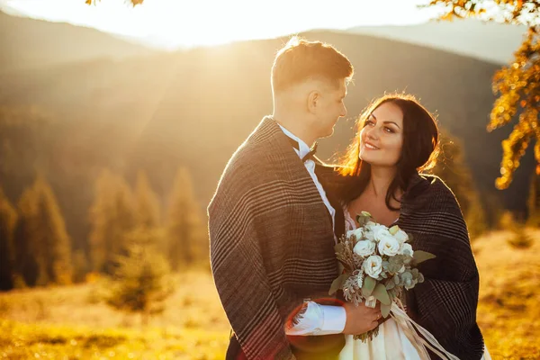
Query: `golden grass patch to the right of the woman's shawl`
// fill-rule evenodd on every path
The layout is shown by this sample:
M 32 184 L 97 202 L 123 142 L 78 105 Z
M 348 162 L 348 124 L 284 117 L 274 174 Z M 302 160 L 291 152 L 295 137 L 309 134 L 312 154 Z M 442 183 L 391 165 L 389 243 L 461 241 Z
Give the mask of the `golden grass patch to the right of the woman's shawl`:
M 481 275 L 478 323 L 493 359 L 540 359 L 540 230 L 532 247 L 509 246 L 510 232 L 473 243 Z

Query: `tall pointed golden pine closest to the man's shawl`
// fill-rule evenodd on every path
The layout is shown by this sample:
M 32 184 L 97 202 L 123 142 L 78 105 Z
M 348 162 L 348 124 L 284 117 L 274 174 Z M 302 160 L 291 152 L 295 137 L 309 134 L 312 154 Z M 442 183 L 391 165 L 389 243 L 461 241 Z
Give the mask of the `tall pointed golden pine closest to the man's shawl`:
M 166 233 L 167 255 L 173 270 L 191 266 L 196 260 L 202 259 L 202 249 L 207 247 L 206 228 L 195 200 L 190 175 L 185 168 L 180 168 L 175 177 Z

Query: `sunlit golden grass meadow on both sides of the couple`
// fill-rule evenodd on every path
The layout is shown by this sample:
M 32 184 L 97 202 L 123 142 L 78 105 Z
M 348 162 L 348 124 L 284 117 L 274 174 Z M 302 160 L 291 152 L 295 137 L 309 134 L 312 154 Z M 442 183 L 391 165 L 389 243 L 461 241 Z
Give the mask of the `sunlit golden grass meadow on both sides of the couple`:
M 478 322 L 494 359 L 540 359 L 540 231 L 527 249 L 508 232 L 473 244 L 481 274 Z M 138 315 L 100 301 L 99 282 L 0 293 L 0 358 L 222 359 L 229 323 L 211 276 L 175 275 L 163 315 Z

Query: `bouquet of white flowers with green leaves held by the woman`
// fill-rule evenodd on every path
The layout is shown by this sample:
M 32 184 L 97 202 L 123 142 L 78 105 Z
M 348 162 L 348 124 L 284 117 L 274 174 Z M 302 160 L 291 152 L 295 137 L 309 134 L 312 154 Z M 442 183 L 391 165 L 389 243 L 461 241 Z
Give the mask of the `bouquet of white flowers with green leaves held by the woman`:
M 397 225 L 388 229 L 375 222 L 367 211 L 362 211 L 356 220 L 358 229 L 347 231 L 335 247 L 344 269 L 332 283 L 329 293 L 342 290 L 347 302 L 356 305 L 365 302 L 365 306 L 371 308 L 381 302 L 381 313 L 386 319 L 392 302 L 400 302 L 402 289 L 410 290 L 424 281 L 416 266 L 435 256 L 426 251 L 413 251 L 410 246 L 412 236 Z M 355 335 L 355 339 L 365 342 L 378 333 L 377 327 Z

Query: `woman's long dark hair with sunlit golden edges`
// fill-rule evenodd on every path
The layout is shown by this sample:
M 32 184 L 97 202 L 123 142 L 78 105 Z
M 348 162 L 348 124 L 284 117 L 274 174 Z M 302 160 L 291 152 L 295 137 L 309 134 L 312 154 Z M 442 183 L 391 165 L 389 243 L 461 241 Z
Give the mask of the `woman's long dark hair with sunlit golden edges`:
M 358 158 L 360 154 L 360 131 L 369 115 L 383 103 L 397 105 L 403 113 L 403 147 L 398 160 L 398 171 L 388 187 L 386 206 L 390 204 L 396 191 L 407 190 L 412 175 L 425 171 L 437 163 L 438 137 L 437 122 L 433 115 L 410 94 L 386 94 L 372 102 L 356 121 L 356 137 L 347 148 L 346 155 L 339 161 L 339 173 L 346 177 L 344 186 L 338 190 L 342 202 L 351 202 L 364 192 L 371 177 L 371 165 Z

